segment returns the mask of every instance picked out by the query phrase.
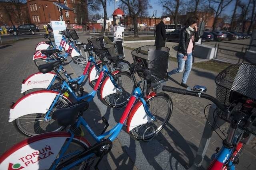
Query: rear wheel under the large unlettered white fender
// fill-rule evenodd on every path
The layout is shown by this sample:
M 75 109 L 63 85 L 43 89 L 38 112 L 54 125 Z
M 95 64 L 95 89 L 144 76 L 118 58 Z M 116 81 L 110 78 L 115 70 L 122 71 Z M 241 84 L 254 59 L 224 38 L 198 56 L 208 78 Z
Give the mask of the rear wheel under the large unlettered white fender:
M 65 98 L 59 98 L 53 107 L 53 111 L 55 109 L 60 109 L 65 106 L 68 106 L 70 101 Z M 45 114 L 42 113 L 32 113 L 28 115 L 24 115 L 14 120 L 14 126 L 18 131 L 23 133 L 26 136 L 35 136 L 41 133 L 53 132 L 53 131 L 61 131 L 65 127 L 58 126 L 57 121 L 51 119 L 50 121 L 44 121 Z

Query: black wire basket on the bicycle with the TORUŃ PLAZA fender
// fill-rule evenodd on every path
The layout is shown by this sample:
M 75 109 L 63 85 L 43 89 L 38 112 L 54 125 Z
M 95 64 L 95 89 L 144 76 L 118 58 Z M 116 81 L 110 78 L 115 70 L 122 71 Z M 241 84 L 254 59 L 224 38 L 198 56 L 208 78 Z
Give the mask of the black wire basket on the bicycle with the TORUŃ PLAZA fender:
M 143 67 L 151 70 L 155 81 L 158 81 L 166 77 L 169 64 L 169 51 L 170 49 L 168 47 L 146 45 L 134 49 L 131 54 L 134 62 L 142 62 Z M 143 72 L 138 72 L 138 75 L 145 78 Z

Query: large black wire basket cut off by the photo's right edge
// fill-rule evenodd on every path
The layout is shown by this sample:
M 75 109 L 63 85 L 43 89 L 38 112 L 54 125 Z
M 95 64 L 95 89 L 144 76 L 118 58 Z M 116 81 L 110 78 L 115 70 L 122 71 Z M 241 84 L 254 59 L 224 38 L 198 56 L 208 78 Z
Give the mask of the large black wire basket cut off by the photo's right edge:
M 256 65 L 231 65 L 216 76 L 215 83 L 216 98 L 225 106 L 229 106 L 237 94 L 256 100 Z

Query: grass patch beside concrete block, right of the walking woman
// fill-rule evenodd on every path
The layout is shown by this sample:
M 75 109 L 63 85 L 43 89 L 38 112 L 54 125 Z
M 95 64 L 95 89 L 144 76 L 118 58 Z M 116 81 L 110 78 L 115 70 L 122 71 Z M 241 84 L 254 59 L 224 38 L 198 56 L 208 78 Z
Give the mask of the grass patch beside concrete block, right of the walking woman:
M 216 60 L 210 60 L 210 61 L 205 61 L 205 62 L 194 63 L 193 67 L 202 68 L 202 69 L 210 70 L 213 72 L 221 72 L 222 70 L 224 70 L 225 68 L 227 68 L 230 65 L 232 65 L 232 64 L 224 63 L 224 62 L 216 61 Z

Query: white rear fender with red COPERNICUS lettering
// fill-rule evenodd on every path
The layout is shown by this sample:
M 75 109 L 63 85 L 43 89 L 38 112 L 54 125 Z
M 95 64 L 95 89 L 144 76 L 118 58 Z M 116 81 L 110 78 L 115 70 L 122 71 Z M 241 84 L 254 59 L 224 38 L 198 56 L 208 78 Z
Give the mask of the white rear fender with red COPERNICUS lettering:
M 43 74 L 42 72 L 37 72 L 35 74 L 32 74 L 26 78 L 22 84 L 21 84 L 21 92 L 24 93 L 27 90 L 33 89 L 33 88 L 48 88 L 50 85 L 50 82 L 52 82 L 52 79 L 54 76 L 56 76 L 54 72 L 48 72 Z

